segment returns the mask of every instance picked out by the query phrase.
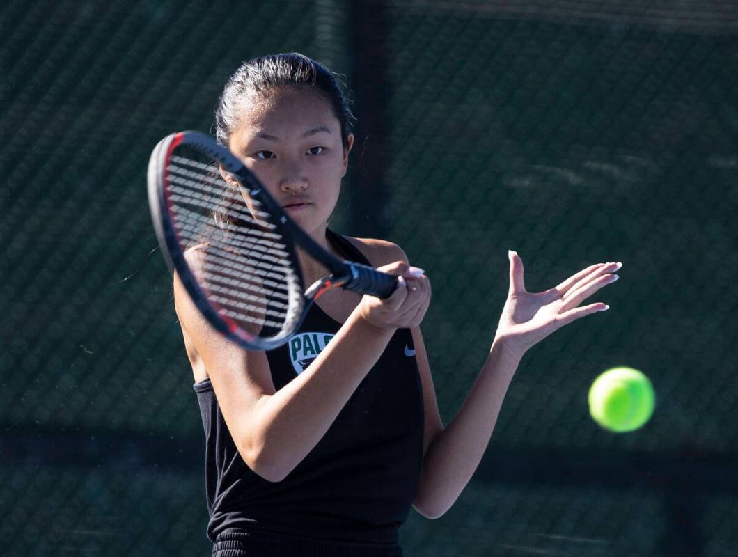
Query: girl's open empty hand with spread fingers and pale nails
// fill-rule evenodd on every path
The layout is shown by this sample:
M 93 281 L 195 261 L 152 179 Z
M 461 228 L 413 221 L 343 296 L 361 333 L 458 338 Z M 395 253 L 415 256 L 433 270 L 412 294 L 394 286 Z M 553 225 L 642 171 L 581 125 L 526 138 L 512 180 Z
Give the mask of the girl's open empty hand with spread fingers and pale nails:
M 503 340 L 508 350 L 519 357 L 564 325 L 606 310 L 609 306 L 601 302 L 582 308 L 579 304 L 603 286 L 618 280 L 618 275 L 613 273 L 622 266 L 622 263 L 597 263 L 555 288 L 532 293 L 525 290 L 520 255 L 516 252 L 509 255 L 510 290 L 494 339 L 496 342 Z

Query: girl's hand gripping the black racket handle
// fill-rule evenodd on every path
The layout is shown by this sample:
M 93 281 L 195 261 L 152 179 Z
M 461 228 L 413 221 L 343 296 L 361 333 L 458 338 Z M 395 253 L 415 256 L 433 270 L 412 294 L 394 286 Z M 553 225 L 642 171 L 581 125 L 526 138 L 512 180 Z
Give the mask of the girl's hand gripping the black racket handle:
M 422 269 L 406 261 L 396 261 L 377 268 L 398 279 L 397 288 L 382 300 L 365 294 L 359 302 L 359 315 L 380 329 L 410 328 L 420 325 L 430 304 L 430 280 Z

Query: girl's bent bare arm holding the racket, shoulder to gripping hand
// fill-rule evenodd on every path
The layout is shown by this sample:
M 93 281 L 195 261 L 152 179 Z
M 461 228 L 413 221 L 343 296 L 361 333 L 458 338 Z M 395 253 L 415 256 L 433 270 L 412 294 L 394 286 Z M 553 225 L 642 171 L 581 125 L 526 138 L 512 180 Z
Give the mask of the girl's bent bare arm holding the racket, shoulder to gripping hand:
M 387 298 L 363 297 L 323 352 L 275 390 L 266 354 L 224 338 L 201 316 L 175 276 L 174 297 L 190 359 L 201 359 L 235 446 L 265 480 L 278 482 L 299 464 L 379 360 L 396 328 L 413 327 L 430 301 L 427 277 L 407 274 L 397 261 L 380 270 L 401 281 Z

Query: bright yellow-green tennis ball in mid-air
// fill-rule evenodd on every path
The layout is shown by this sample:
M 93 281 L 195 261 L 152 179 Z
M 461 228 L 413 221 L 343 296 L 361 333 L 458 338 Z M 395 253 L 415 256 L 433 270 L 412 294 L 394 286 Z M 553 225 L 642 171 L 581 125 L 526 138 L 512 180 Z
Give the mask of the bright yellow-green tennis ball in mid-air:
M 632 432 L 649 421 L 655 397 L 649 378 L 632 367 L 613 367 L 590 387 L 590 414 L 605 429 Z

